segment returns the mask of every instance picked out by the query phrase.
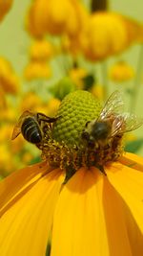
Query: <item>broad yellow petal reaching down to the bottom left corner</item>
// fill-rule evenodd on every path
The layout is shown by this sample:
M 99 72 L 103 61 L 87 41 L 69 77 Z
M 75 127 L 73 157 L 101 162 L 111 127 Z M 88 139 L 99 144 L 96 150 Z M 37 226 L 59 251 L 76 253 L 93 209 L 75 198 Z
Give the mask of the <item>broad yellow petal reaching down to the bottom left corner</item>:
M 59 169 L 19 195 L 0 219 L 0 255 L 45 256 L 62 183 Z

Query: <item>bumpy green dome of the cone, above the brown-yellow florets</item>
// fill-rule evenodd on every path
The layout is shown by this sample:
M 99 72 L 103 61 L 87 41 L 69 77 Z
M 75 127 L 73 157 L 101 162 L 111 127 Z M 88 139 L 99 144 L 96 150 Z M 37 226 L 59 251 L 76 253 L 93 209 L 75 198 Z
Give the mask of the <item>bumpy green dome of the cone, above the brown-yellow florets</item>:
M 53 125 L 53 139 L 67 146 L 78 146 L 86 123 L 97 118 L 100 111 L 100 102 L 92 93 L 82 90 L 70 93 L 59 106 L 57 116 L 60 118 Z

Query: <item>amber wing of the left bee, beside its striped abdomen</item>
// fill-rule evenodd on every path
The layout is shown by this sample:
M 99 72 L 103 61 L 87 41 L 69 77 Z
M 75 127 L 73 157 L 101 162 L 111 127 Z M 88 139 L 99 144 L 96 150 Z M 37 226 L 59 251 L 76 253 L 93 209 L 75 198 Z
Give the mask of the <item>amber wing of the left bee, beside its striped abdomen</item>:
M 27 116 L 31 116 L 32 113 L 29 110 L 25 110 L 21 116 L 18 119 L 17 124 L 14 126 L 13 131 L 12 131 L 12 135 L 11 135 L 11 140 L 14 140 L 21 132 L 21 125 L 23 122 L 23 119 Z

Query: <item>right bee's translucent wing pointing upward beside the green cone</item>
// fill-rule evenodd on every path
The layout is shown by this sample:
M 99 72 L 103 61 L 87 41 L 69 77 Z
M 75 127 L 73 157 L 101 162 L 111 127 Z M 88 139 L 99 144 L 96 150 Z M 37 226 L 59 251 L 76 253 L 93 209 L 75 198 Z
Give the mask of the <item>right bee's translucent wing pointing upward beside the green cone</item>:
M 114 91 L 105 103 L 99 118 L 105 119 L 109 117 L 112 113 L 120 114 L 123 112 L 124 102 L 122 99 L 122 94 L 119 91 Z

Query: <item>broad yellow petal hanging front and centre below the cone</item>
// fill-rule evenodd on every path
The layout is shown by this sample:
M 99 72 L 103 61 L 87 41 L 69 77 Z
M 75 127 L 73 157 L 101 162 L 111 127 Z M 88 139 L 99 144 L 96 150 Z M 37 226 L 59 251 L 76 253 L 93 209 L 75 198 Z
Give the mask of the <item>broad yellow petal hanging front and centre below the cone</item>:
M 133 255 L 126 216 L 133 218 L 130 212 L 125 215 L 125 209 L 124 201 L 106 176 L 95 168 L 80 169 L 59 196 L 51 256 Z M 136 225 L 134 231 L 138 232 Z

